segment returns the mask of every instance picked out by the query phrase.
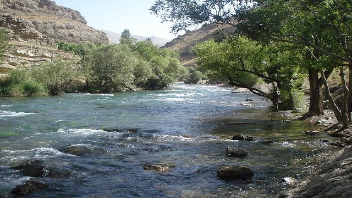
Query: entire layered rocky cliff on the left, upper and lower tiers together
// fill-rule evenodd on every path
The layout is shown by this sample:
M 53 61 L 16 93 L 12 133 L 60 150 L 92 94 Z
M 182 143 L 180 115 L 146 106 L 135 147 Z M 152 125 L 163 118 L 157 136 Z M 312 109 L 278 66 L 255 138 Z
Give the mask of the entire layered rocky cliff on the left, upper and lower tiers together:
M 0 0 L 0 27 L 10 36 L 0 74 L 56 58 L 77 57 L 57 49 L 55 42 L 108 43 L 105 33 L 86 25 L 78 11 L 50 0 Z

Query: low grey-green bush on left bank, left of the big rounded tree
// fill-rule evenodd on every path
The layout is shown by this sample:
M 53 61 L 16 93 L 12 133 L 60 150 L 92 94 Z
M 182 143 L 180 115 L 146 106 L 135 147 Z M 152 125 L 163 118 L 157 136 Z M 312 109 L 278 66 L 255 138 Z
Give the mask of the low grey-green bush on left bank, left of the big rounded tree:
M 32 77 L 43 83 L 51 95 L 58 95 L 67 89 L 68 85 L 82 74 L 82 68 L 72 61 L 57 60 L 45 62 L 34 68 Z

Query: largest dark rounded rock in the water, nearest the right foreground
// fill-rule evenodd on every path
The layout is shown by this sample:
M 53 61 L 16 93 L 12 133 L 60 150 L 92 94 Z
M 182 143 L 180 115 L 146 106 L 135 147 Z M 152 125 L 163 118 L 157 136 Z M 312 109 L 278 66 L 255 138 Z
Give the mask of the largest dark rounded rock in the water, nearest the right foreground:
M 232 180 L 232 179 L 249 179 L 253 176 L 253 171 L 245 166 L 230 166 L 219 168 L 216 172 L 219 179 Z

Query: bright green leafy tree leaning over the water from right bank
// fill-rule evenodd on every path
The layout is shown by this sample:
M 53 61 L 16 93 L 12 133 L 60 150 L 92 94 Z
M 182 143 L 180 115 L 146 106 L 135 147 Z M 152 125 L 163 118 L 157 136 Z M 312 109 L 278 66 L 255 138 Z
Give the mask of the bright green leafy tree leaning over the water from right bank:
M 275 47 L 282 46 L 276 44 Z M 282 106 L 286 109 L 298 107 L 294 95 L 303 77 L 301 67 L 297 64 L 299 53 L 290 50 L 278 54 L 273 45 L 271 48 L 263 47 L 243 37 L 198 43 L 193 50 L 201 68 L 226 78 L 231 85 L 247 88 L 254 94 L 272 99 L 270 93 L 254 87 L 261 79 L 281 89 L 285 96 Z

